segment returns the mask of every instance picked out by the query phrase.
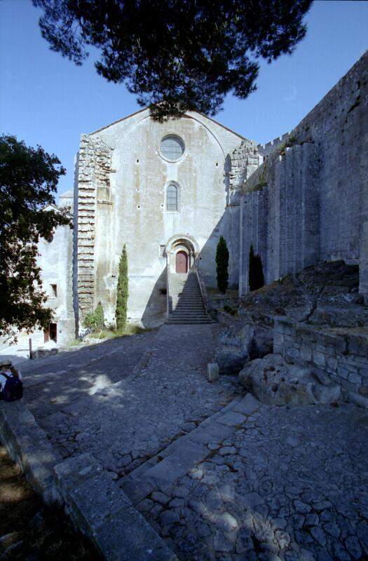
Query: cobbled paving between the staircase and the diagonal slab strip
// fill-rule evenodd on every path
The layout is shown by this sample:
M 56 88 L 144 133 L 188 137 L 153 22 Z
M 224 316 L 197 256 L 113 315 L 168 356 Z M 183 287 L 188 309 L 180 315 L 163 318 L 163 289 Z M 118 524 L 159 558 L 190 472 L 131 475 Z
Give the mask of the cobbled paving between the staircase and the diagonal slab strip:
M 100 349 L 97 356 L 84 349 L 89 363 L 83 367 L 77 353 L 50 361 L 29 376 L 35 385 L 26 387 L 27 405 L 62 457 L 90 452 L 121 477 L 241 391 L 233 377 L 206 381 L 213 329 L 164 325 L 154 336 L 111 344 L 104 358 Z M 66 372 L 50 374 L 56 366 Z

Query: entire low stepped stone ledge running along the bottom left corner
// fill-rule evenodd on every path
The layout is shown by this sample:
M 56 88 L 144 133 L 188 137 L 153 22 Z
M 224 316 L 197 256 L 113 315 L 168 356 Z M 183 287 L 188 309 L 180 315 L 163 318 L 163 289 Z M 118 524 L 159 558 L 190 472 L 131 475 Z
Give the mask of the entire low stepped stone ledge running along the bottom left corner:
M 0 438 L 48 504 L 62 503 L 107 561 L 177 561 L 107 471 L 90 455 L 62 461 L 21 401 L 0 403 Z

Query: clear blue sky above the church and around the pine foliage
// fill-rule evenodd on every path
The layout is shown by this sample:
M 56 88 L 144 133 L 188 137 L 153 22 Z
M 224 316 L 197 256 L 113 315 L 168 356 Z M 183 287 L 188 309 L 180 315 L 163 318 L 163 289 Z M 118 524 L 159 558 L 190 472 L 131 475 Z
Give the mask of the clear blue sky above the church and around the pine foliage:
M 124 86 L 98 76 L 93 60 L 76 67 L 41 37 L 30 0 L 0 1 L 0 128 L 57 154 L 73 184 L 81 133 L 139 109 Z M 257 15 L 255 15 L 257 17 Z M 368 48 L 368 1 L 315 1 L 308 32 L 291 55 L 262 64 L 257 91 L 229 96 L 214 118 L 257 142 L 294 128 Z

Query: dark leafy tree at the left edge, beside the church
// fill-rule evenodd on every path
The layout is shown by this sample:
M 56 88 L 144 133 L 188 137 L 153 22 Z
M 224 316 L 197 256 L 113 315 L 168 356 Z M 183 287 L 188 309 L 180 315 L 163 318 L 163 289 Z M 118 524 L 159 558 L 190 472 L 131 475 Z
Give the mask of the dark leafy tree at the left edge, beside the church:
M 0 336 L 15 337 L 15 328 L 46 328 L 52 318 L 52 310 L 44 307 L 37 243 L 57 226 L 70 224 L 67 213 L 44 210 L 55 203 L 64 173 L 59 159 L 40 146 L 0 136 Z

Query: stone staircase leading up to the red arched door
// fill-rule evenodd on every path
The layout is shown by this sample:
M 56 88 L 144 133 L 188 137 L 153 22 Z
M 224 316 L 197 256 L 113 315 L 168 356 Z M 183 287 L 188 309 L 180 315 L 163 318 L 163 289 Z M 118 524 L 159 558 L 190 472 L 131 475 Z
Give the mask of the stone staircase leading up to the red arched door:
M 184 325 L 214 323 L 205 311 L 196 273 L 170 274 L 170 314 L 166 323 Z

